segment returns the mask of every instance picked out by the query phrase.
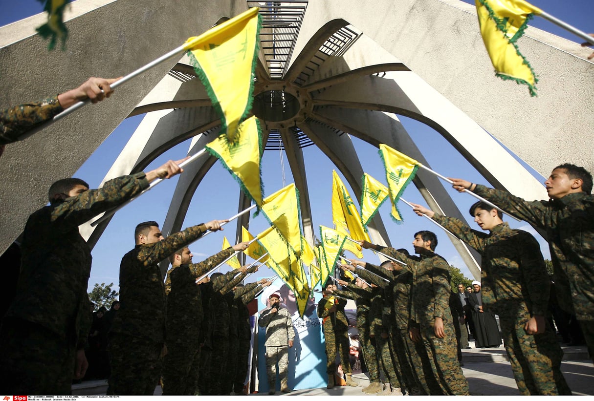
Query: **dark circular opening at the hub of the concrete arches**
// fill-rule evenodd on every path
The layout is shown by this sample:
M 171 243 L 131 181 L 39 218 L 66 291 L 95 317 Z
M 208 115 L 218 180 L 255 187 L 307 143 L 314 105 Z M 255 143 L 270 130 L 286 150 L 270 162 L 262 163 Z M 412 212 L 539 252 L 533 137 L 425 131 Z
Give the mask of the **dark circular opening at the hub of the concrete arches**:
M 265 121 L 284 121 L 299 113 L 299 100 L 285 91 L 266 91 L 254 96 L 252 112 Z

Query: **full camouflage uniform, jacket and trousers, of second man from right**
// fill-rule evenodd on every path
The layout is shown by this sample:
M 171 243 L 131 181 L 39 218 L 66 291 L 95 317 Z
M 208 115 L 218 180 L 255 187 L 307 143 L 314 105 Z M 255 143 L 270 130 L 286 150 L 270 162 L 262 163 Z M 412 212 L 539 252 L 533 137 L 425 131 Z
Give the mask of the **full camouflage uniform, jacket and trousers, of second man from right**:
M 471 230 L 456 218 L 434 220 L 482 256 L 482 302 L 499 315 L 505 351 L 523 395 L 571 395 L 561 373 L 563 351 L 548 322 L 545 332 L 524 330 L 531 316 L 545 316 L 549 281 L 536 239 L 526 231 L 499 224 L 491 234 Z

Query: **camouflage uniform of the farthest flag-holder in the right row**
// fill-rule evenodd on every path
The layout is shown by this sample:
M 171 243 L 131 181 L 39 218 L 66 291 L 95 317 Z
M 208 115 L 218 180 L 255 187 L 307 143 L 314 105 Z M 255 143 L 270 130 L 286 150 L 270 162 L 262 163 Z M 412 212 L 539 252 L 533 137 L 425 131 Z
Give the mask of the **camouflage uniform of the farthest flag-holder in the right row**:
M 380 381 L 380 370 L 375 352 L 374 343 L 371 341 L 369 330 L 369 307 L 371 299 L 379 295 L 379 288 L 359 288 L 356 285 L 343 287 L 342 291 L 334 291 L 339 297 L 346 297 L 355 300 L 357 303 L 357 329 L 359 330 L 359 343 L 363 352 L 363 360 L 369 373 L 369 381 Z

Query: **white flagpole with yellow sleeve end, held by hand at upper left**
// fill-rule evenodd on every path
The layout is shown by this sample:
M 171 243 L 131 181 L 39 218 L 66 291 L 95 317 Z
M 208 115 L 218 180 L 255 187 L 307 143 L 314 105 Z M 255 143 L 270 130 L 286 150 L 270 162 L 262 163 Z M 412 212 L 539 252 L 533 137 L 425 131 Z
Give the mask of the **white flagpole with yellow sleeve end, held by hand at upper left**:
M 222 24 L 217 25 L 213 28 L 210 28 L 209 30 L 207 30 L 206 32 L 201 34 L 200 36 L 195 37 L 195 39 L 192 40 L 191 42 L 185 42 L 181 46 L 176 47 L 175 49 L 171 50 L 169 53 L 166 53 L 165 55 L 162 55 L 159 58 L 154 59 L 150 63 L 148 63 L 144 66 L 141 66 L 137 70 L 132 71 L 130 74 L 126 75 L 125 77 L 118 79 L 118 81 L 113 82 L 113 84 L 110 84 L 109 85 L 110 88 L 115 89 L 115 88 L 119 87 L 119 85 L 122 85 L 125 82 L 128 82 L 132 78 L 138 77 L 138 75 L 140 75 L 143 72 L 153 68 L 154 66 L 159 65 L 160 63 L 172 58 L 173 56 L 179 55 L 179 53 L 187 52 L 188 50 L 192 49 L 193 47 L 197 46 L 198 44 L 206 42 L 206 40 L 209 39 L 211 36 L 213 36 L 214 34 L 218 34 L 219 31 L 221 31 L 221 30 L 225 30 L 231 24 L 236 24 L 240 20 L 245 20 L 246 18 L 251 18 L 252 14 L 254 14 L 254 12 L 257 13 L 257 11 L 254 11 L 254 8 L 258 9 L 257 7 L 252 7 L 251 9 L 248 9 L 248 11 L 245 11 L 242 14 L 239 14 L 236 17 L 233 17 L 230 20 L 225 21 L 225 23 L 222 23 Z M 29 136 L 33 135 L 34 133 L 41 131 L 42 129 L 55 123 L 56 121 L 61 120 L 65 116 L 68 116 L 68 114 L 74 112 L 75 110 L 80 109 L 87 103 L 90 103 L 89 98 L 73 104 L 72 106 L 68 107 L 68 109 L 64 110 L 63 112 L 56 114 L 53 117 L 53 119 L 49 120 L 48 122 L 45 122 L 45 123 L 37 126 L 36 128 L 32 129 L 31 131 L 21 135 L 19 140 L 28 138 Z

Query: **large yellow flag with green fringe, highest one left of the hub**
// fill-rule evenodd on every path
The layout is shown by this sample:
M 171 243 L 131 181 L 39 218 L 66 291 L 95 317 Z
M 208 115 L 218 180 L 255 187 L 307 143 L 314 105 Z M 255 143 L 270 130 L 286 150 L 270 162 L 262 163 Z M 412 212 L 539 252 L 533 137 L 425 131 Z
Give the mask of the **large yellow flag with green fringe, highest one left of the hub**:
M 229 142 L 235 142 L 237 126 L 248 116 L 254 100 L 261 26 L 258 10 L 250 8 L 184 44 L 198 78 L 220 114 L 222 133 Z

